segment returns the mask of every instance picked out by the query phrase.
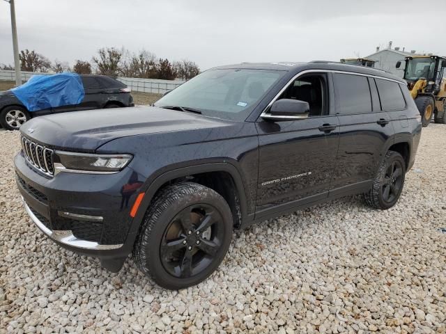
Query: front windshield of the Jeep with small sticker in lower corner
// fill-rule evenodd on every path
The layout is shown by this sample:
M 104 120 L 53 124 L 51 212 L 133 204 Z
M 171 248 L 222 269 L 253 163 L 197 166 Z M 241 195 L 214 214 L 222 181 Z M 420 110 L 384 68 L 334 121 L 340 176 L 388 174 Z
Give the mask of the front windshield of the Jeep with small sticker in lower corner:
M 277 70 L 208 70 L 155 102 L 227 120 L 245 120 L 265 93 L 284 75 Z

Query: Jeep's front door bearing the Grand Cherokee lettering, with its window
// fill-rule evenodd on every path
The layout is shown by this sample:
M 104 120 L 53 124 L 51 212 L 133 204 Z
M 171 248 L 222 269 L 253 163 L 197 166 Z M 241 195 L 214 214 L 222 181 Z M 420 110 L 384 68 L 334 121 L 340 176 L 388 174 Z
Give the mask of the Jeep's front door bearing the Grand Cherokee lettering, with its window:
M 309 103 L 306 119 L 256 123 L 259 181 L 256 218 L 326 198 L 339 142 L 337 116 L 330 115 L 326 74 L 304 74 L 282 98 Z M 266 111 L 268 113 L 268 111 Z

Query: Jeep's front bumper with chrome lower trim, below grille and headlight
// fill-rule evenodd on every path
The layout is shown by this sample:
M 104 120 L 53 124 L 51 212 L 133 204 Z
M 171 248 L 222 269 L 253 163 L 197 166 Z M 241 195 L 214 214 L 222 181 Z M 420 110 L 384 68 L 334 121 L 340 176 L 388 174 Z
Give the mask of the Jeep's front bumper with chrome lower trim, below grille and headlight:
M 139 182 L 140 176 L 131 168 L 112 175 L 59 173 L 48 177 L 30 166 L 20 152 L 15 157 L 15 171 L 26 212 L 56 244 L 101 259 L 122 259 L 132 251 L 136 234 L 130 229 L 130 209 L 138 189 L 132 188 L 133 193 L 123 189 Z M 61 212 L 103 220 L 67 218 Z

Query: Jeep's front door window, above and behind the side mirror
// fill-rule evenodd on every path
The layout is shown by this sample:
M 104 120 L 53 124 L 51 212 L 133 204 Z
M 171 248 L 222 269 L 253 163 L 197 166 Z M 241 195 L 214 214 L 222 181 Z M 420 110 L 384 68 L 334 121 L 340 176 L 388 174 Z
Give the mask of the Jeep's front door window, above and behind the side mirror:
M 328 114 L 328 88 L 325 74 L 312 74 L 299 77 L 279 99 L 291 99 L 308 102 L 309 117 Z

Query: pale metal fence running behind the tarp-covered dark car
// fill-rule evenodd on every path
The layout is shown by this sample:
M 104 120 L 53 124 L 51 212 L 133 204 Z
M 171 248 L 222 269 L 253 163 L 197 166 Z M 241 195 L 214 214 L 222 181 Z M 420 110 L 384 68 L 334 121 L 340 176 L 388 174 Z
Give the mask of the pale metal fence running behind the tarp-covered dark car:
M 28 81 L 33 74 L 45 74 L 49 75 L 52 73 L 38 73 L 38 72 L 24 72 L 22 71 L 22 81 Z M 163 94 L 167 90 L 174 89 L 180 84 L 183 84 L 183 80 L 159 80 L 159 79 L 139 79 L 139 78 L 125 78 L 118 77 L 118 81 L 127 85 L 128 88 L 135 92 L 144 93 L 157 93 Z M 15 81 L 15 71 L 11 70 L 0 70 L 0 80 L 3 81 Z

